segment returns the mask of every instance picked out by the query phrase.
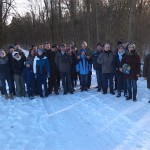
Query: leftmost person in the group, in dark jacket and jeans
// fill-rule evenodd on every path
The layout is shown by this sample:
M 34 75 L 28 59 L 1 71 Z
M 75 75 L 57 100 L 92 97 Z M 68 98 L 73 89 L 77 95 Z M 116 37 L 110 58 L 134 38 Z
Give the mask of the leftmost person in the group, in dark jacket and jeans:
M 13 99 L 13 81 L 11 80 L 11 68 L 9 67 L 9 60 L 4 50 L 0 50 L 0 81 L 2 84 L 2 95 L 5 99 Z M 6 90 L 6 81 L 9 87 L 9 95 Z

